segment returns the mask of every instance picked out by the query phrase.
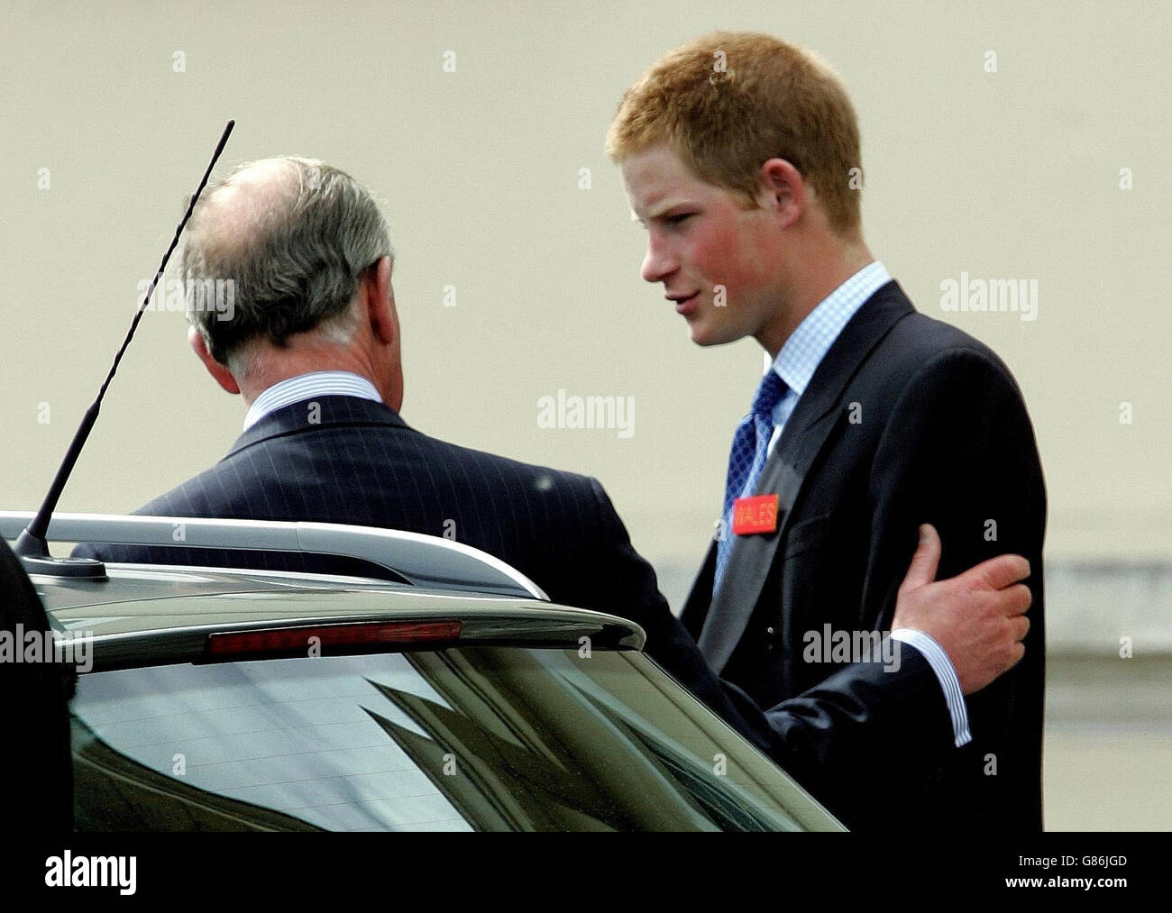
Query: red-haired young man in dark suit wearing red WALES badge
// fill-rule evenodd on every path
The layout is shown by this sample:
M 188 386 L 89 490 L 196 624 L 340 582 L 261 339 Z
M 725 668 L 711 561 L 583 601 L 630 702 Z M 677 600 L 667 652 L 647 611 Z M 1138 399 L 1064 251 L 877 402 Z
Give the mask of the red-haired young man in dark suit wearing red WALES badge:
M 804 778 L 853 827 L 1040 830 L 1034 431 L 1001 360 L 918 313 L 867 248 L 841 81 L 768 35 L 706 35 L 628 89 L 607 151 L 648 232 L 643 279 L 663 285 L 697 345 L 751 336 L 772 361 L 734 436 L 720 532 L 682 614 L 709 665 L 771 707 L 860 659 L 868 632 L 891 626 L 921 523 L 940 532 L 941 575 L 1022 554 L 1026 655 L 989 688 L 963 699 L 931 638 L 895 635 L 932 662 L 956 749 L 917 766 L 893 745 L 870 752 L 865 774 Z

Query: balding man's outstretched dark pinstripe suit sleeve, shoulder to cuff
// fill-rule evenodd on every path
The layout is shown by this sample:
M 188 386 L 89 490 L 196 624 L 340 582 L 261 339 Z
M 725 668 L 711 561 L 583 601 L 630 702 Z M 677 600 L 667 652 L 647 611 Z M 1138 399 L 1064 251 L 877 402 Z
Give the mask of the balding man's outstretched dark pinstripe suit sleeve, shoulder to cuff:
M 815 795 L 826 795 L 826 786 L 841 777 L 861 776 L 880 747 L 915 745 L 915 763 L 924 763 L 925 754 L 932 757 L 952 749 L 943 694 L 914 649 L 904 650 L 899 672 L 856 663 L 768 710 L 718 679 L 668 609 L 655 572 L 635 552 L 606 492 L 597 481 L 591 483 L 602 534 L 595 537 L 598 545 L 582 563 L 578 582 L 590 604 L 578 605 L 638 622 L 647 634 L 648 656 Z

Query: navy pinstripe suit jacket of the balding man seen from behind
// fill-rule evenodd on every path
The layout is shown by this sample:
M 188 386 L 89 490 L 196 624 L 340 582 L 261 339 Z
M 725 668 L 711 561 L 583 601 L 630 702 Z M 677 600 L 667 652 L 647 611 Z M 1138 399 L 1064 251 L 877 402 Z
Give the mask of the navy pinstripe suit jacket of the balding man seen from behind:
M 851 667 L 762 713 L 708 669 L 595 479 L 437 441 L 380 403 L 346 396 L 313 402 L 316 416 L 307 402 L 277 410 L 219 463 L 138 513 L 347 523 L 430 536 L 455 522 L 458 541 L 513 565 L 552 600 L 641 625 L 649 656 L 797 777 L 857 776 L 868 745 L 914 743 L 932 759 L 953 750 L 943 696 L 921 656 L 909 658 L 899 675 L 874 663 Z M 81 545 L 74 553 L 110 561 L 354 570 L 335 558 L 263 552 Z

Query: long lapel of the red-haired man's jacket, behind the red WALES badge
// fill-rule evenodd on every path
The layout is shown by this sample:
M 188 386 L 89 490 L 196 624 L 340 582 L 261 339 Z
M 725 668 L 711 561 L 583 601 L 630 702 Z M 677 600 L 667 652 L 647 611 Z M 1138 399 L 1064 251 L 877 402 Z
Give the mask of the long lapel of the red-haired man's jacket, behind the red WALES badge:
M 757 606 L 778 543 L 790 527 L 806 472 L 831 430 L 845 418 L 838 408 L 843 390 L 879 341 L 913 311 L 899 285 L 891 281 L 851 318 L 798 398 L 754 490 L 755 495 L 777 493 L 777 530 L 755 536 L 725 531 L 725 536 L 732 536 L 728 565 L 699 638 L 701 652 L 717 673 L 728 663 Z

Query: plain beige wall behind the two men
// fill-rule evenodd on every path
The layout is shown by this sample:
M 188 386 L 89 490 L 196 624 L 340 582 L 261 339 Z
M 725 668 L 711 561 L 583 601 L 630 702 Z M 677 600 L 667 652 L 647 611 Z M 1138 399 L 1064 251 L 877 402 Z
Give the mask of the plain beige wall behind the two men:
M 640 280 L 642 230 L 602 138 L 645 66 L 729 27 L 808 45 L 845 76 L 872 250 L 1016 374 L 1049 553 L 1170 559 L 1170 9 L 5 0 L 0 506 L 38 504 L 231 116 L 225 162 L 318 156 L 386 199 L 410 423 L 597 475 L 648 558 L 699 561 L 761 355 L 693 347 Z M 1037 319 L 943 314 L 941 280 L 962 272 L 1036 279 Z M 146 315 L 62 509 L 132 509 L 236 437 L 243 409 L 184 327 Z M 633 436 L 539 429 L 538 397 L 559 389 L 634 397 Z

